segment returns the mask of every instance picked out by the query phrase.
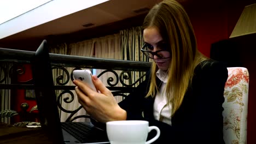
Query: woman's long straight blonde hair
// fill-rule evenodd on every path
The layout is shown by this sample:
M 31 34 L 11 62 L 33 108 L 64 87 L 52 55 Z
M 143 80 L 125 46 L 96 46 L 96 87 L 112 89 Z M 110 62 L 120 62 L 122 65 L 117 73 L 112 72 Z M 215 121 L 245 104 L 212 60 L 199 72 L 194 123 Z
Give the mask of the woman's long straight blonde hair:
M 162 38 L 170 44 L 171 63 L 168 67 L 166 99 L 172 103 L 172 115 L 182 104 L 185 93 L 191 85 L 196 66 L 207 58 L 197 50 L 196 37 L 187 13 L 174 0 L 156 4 L 144 19 L 143 28 L 158 28 Z M 151 82 L 146 97 L 155 97 L 158 92 L 156 71 L 153 62 Z

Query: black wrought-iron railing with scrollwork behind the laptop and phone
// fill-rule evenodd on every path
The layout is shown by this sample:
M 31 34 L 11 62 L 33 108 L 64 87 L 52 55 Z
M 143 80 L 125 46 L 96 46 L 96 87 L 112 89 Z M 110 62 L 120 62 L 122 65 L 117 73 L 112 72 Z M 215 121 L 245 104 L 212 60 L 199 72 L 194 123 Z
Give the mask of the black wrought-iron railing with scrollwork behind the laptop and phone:
M 18 84 L 1 84 L 7 79 L 8 71 L 9 76 L 15 77 L 17 74 L 24 74 L 25 67 L 22 64 L 30 63 L 30 60 L 34 52 L 31 51 L 20 51 L 20 50 L 10 50 L 0 48 L 0 62 L 12 63 L 12 67 L 8 70 L 2 65 L 0 65 L 0 87 L 1 89 L 34 89 L 33 85 L 20 85 Z M 52 70 L 61 70 L 62 74 L 54 76 L 56 81 L 55 90 L 57 94 L 57 106 L 62 112 L 70 113 L 66 118 L 66 122 L 72 122 L 78 118 L 90 118 L 88 115 L 75 116 L 75 114 L 83 109 L 83 106 L 78 106 L 75 110 L 67 110 L 63 107 L 64 104 L 70 104 L 74 101 L 74 85 L 67 85 L 69 80 L 73 81 L 73 70 L 75 69 L 101 69 L 102 73 L 98 74 L 97 77 L 103 77 L 106 73 L 112 73 L 114 76 L 107 77 L 107 83 L 110 91 L 112 91 L 114 97 L 127 97 L 128 94 L 133 92 L 136 87 L 136 83 L 142 81 L 146 74 L 141 75 L 137 80 L 132 81 L 132 74 L 135 71 L 148 71 L 150 68 L 150 63 L 148 62 L 136 62 L 136 61 L 123 61 L 118 59 L 103 59 L 103 58 L 91 58 L 91 57 L 79 57 L 79 56 L 68 56 L 68 55 L 57 55 L 50 53 L 50 60 Z M 79 65 L 79 67 L 78 67 Z M 68 69 L 71 68 L 72 71 Z M 121 73 L 117 73 L 120 71 Z M 129 82 L 129 84 L 125 82 Z M 118 84 L 121 84 L 119 86 Z M 61 91 L 60 91 L 61 90 Z

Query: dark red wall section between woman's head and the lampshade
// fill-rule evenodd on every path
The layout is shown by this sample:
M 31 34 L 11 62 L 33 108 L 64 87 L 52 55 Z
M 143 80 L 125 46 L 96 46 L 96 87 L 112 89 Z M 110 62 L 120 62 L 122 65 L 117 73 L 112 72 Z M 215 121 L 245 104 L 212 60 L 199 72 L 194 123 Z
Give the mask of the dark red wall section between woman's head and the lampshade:
M 242 10 L 242 5 L 238 7 L 230 4 L 201 10 L 188 10 L 198 48 L 204 55 L 210 57 L 211 44 L 229 38 Z

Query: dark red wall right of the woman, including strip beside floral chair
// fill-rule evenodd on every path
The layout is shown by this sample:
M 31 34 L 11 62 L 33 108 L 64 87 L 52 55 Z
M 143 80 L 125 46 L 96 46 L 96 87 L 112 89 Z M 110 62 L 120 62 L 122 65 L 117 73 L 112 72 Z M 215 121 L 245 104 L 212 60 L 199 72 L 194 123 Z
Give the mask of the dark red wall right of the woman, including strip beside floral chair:
M 229 36 L 234 29 L 237 20 L 239 19 L 243 8 L 248 3 L 234 2 L 216 7 L 194 8 L 188 10 L 190 20 L 193 24 L 197 38 L 199 50 L 210 57 L 210 48 L 212 43 L 229 39 Z M 249 98 L 248 98 L 248 120 L 247 120 L 247 143 L 253 144 L 256 142 L 256 116 L 253 111 L 256 110 L 256 68 L 253 62 L 256 61 L 253 56 L 252 46 L 247 46 L 249 50 L 243 49 L 243 67 L 249 71 Z

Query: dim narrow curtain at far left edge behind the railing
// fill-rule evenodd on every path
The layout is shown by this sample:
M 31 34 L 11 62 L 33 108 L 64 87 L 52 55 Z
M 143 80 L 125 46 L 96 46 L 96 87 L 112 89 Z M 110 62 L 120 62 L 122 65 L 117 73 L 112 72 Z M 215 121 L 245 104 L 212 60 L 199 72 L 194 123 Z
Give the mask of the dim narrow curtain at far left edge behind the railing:
M 9 70 L 13 64 L 8 62 L 0 63 L 0 83 L 1 84 L 10 84 L 11 83 L 11 77 Z M 6 77 L 5 77 L 6 76 Z M 2 81 L 2 82 L 1 82 Z M 1 104 L 1 110 L 10 110 L 10 98 L 11 98 L 11 89 L 1 89 L 0 88 L 0 104 Z M 1 122 L 3 123 L 9 123 L 10 124 L 10 118 L 5 117 L 1 118 Z

